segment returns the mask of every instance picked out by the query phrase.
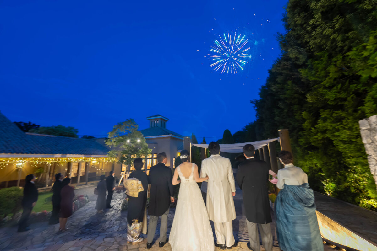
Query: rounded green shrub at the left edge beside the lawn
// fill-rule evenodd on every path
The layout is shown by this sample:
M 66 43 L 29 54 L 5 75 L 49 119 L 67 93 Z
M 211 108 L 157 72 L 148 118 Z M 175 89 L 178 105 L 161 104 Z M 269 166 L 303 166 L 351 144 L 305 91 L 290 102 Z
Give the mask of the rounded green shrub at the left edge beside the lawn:
M 8 214 L 15 214 L 21 210 L 23 189 L 20 187 L 8 187 L 0 190 L 0 219 Z

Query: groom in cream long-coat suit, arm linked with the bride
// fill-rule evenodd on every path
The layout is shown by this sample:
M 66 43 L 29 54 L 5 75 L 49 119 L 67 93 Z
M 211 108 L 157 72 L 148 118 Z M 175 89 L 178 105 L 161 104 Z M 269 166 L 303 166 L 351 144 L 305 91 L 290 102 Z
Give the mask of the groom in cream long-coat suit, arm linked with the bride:
M 220 249 L 237 246 L 234 241 L 233 223 L 236 219 L 233 196 L 236 195 L 233 170 L 228 158 L 220 156 L 220 145 L 208 145 L 211 156 L 202 161 L 200 176 L 208 175 L 207 212 L 215 225 L 216 243 Z

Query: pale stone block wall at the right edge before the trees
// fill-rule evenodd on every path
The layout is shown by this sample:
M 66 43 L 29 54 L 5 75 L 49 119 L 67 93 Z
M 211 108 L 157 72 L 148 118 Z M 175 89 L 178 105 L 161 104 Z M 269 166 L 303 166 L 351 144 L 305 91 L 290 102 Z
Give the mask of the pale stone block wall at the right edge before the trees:
M 369 169 L 377 185 L 377 115 L 359 121 L 360 134 L 368 155 Z

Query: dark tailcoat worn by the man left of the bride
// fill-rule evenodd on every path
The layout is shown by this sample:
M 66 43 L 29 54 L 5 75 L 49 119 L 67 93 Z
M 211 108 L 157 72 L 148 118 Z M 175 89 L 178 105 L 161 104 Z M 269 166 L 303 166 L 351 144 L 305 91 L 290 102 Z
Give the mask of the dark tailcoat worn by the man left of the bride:
M 164 163 L 158 163 L 149 170 L 148 184 L 149 194 L 149 215 L 161 216 L 170 206 L 170 197 L 174 196 L 173 174 L 170 167 Z

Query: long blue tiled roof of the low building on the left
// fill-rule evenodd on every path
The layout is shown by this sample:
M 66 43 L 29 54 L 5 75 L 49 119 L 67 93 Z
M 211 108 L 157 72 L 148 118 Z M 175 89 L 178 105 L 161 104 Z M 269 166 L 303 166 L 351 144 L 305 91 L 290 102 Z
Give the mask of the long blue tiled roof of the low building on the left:
M 25 133 L 0 113 L 2 154 L 106 155 L 107 151 L 105 146 L 95 140 Z

